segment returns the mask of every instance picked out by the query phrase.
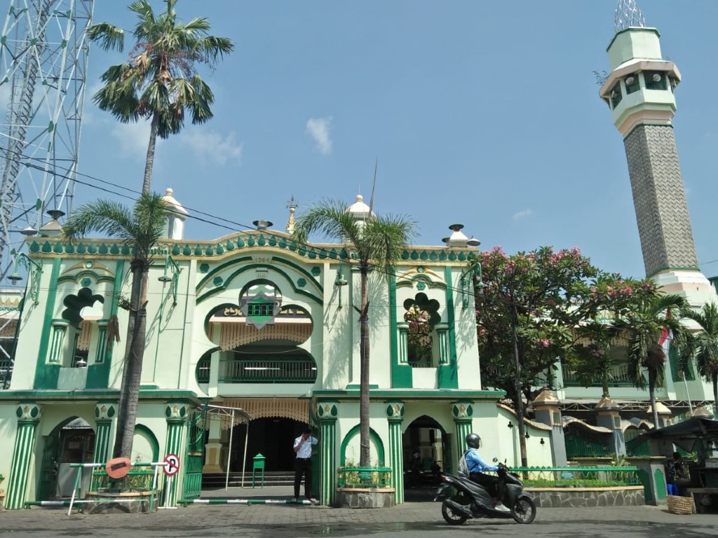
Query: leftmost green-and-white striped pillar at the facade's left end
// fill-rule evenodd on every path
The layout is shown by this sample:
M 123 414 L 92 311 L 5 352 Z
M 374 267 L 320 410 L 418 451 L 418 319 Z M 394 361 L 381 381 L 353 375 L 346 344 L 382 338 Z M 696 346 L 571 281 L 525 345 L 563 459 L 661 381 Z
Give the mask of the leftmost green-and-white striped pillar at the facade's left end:
M 24 508 L 25 491 L 30 463 L 33 461 L 35 430 L 42 416 L 42 407 L 37 403 L 22 403 L 15 411 L 17 435 L 10 464 L 10 481 L 7 486 L 5 507 L 9 510 Z

